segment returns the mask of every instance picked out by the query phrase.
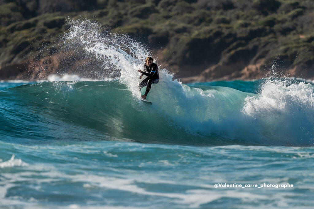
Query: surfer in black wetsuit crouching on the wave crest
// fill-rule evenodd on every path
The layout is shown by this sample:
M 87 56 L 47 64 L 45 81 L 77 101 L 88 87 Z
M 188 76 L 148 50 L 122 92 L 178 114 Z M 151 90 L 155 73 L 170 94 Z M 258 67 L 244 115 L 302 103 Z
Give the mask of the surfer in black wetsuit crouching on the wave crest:
M 154 59 L 152 57 L 147 57 L 144 64 L 144 71 L 138 70 L 138 72 L 142 73 L 139 79 L 142 79 L 143 75 L 147 76 L 139 85 L 138 88 L 141 90 L 144 86 L 146 87 L 145 94 L 142 95 L 143 99 L 146 99 L 147 94 L 152 86 L 152 84 L 156 84 L 159 82 L 159 73 L 158 66 L 156 63 L 153 63 Z

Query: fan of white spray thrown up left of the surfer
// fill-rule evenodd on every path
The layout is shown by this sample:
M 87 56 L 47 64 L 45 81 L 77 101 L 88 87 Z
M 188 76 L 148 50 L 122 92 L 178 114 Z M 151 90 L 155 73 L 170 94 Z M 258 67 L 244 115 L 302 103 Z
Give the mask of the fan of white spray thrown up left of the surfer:
M 143 60 L 149 55 L 143 44 L 127 35 L 109 33 L 99 23 L 90 20 L 69 19 L 68 22 L 71 28 L 65 34 L 65 48 L 87 53 L 98 60 L 103 76 L 119 79 L 138 95 L 137 70 L 143 69 Z

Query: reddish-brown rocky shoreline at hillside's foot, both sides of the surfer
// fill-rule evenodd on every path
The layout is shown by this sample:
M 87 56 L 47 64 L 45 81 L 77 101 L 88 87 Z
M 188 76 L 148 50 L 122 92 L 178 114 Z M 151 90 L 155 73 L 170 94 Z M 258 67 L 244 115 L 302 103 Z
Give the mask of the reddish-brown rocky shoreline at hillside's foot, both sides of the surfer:
M 62 56 L 64 58 L 64 55 Z M 94 72 L 82 70 L 82 66 L 79 66 L 82 62 L 90 62 L 90 60 L 81 60 L 77 64 L 72 65 L 71 68 L 65 70 L 61 69 L 60 58 L 46 57 L 37 62 L 25 61 L 20 64 L 7 65 L 0 67 L 0 80 L 23 80 L 23 81 L 38 81 L 48 80 L 48 76 L 56 75 L 62 77 L 63 75 L 77 75 L 79 77 L 88 78 L 90 80 L 102 80 L 104 77 L 107 79 L 108 76 L 100 76 L 101 70 L 94 67 Z M 193 83 L 193 82 L 209 82 L 209 81 L 252 81 L 271 76 L 276 77 L 295 77 L 302 78 L 305 80 L 314 80 L 312 71 L 310 69 L 301 69 L 301 67 L 295 66 L 288 69 L 274 68 L 265 69 L 263 60 L 257 64 L 245 65 L 243 63 L 233 64 L 216 64 L 207 69 L 201 71 L 198 75 L 192 74 L 193 66 L 185 67 L 185 71 L 180 71 L 179 66 L 174 66 L 172 70 L 171 66 L 167 67 L 174 74 L 174 78 L 180 80 L 182 83 Z

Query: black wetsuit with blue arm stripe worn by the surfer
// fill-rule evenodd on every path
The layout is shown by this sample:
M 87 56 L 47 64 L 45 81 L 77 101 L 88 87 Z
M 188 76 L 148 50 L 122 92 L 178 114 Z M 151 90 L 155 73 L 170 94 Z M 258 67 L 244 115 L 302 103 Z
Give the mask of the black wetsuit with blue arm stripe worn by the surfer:
M 144 86 L 147 85 L 145 96 L 147 96 L 150 87 L 152 84 L 156 84 L 159 82 L 159 73 L 158 73 L 158 66 L 155 63 L 152 63 L 150 66 L 148 66 L 146 63 L 144 64 L 144 70 L 142 73 L 142 76 L 145 75 L 147 78 L 145 78 L 139 85 L 139 89 L 141 90 Z M 147 71 L 147 72 L 146 72 Z

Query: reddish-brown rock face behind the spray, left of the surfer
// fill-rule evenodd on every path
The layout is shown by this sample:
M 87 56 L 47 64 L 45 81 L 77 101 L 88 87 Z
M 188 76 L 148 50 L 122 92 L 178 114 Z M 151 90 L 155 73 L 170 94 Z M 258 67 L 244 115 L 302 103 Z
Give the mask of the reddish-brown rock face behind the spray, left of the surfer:
M 6 65 L 0 68 L 2 80 L 46 80 L 51 74 L 62 76 L 75 74 L 85 78 L 103 79 L 110 77 L 104 72 L 102 63 L 92 58 L 78 59 L 74 53 L 57 53 L 39 60 L 27 60 L 21 64 Z M 113 76 L 118 76 L 117 74 Z

